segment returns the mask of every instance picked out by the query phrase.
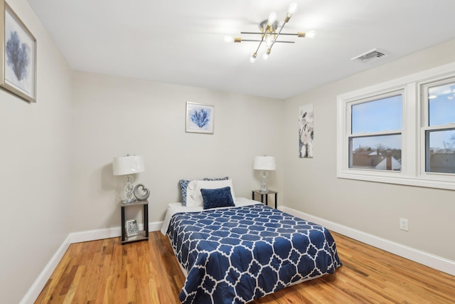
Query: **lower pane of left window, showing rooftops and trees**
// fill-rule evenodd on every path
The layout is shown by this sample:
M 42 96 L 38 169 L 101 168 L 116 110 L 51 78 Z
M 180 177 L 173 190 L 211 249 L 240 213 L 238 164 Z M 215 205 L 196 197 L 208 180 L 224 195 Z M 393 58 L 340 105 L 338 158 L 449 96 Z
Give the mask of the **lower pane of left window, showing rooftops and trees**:
M 353 137 L 350 168 L 401 171 L 401 135 Z

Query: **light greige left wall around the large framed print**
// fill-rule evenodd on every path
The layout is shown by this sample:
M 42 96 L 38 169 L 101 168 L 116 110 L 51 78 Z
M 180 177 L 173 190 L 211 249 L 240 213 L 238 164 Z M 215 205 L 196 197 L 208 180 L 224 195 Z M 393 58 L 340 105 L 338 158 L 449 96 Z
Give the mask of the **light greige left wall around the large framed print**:
M 70 70 L 25 0 L 38 41 L 37 102 L 0 90 L 0 299 L 18 303 L 70 233 Z

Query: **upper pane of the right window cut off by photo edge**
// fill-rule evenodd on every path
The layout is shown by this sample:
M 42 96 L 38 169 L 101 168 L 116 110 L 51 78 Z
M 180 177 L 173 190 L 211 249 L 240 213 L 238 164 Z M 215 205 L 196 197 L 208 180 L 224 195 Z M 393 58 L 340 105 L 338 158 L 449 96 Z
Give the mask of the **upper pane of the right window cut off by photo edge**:
M 455 122 L 455 83 L 428 89 L 429 126 Z

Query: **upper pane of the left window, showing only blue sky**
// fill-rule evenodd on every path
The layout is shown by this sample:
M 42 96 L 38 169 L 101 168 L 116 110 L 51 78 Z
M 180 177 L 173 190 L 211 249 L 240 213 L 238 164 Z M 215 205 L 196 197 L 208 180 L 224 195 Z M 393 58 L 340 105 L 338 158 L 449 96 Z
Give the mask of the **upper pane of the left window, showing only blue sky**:
M 353 105 L 352 134 L 401 130 L 402 95 Z

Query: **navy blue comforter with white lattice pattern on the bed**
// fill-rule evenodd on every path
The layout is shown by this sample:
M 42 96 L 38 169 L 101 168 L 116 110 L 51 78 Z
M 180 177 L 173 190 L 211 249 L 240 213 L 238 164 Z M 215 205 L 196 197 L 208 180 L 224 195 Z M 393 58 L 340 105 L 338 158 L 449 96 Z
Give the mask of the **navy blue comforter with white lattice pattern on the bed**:
M 325 227 L 262 204 L 175 214 L 168 236 L 181 303 L 247 303 L 341 266 Z

